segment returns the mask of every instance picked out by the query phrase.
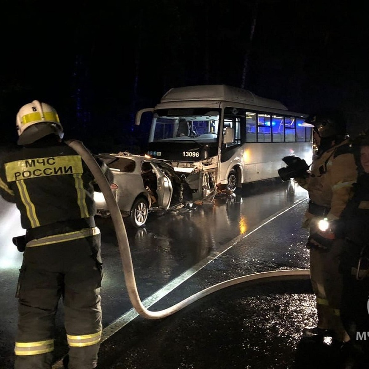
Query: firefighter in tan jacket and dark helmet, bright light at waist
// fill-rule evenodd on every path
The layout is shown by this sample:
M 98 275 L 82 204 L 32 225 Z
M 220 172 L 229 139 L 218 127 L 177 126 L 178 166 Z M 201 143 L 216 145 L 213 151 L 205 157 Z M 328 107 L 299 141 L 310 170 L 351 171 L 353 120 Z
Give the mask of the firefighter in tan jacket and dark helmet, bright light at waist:
M 346 125 L 339 114 L 316 114 L 306 120 L 313 127 L 318 150 L 310 171 L 300 158 L 283 158 L 283 180 L 294 178 L 308 191 L 309 205 L 303 228 L 309 229 L 310 275 L 316 296 L 318 324 L 304 328 L 304 337 L 332 337 L 335 342 L 349 341 L 340 318 L 342 275 L 338 271 L 341 247 L 335 242 L 329 223 L 337 220 L 349 199 L 357 170 L 354 155 L 346 136 Z M 319 226 L 321 229 L 319 229 Z

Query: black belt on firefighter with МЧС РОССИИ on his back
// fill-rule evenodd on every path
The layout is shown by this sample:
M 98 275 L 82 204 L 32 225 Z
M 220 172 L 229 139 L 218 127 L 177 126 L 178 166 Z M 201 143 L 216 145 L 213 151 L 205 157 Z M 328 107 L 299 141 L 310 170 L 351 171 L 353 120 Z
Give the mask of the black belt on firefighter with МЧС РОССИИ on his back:
M 27 230 L 25 237 L 26 242 L 32 239 L 52 236 L 55 234 L 62 234 L 67 232 L 79 231 L 83 228 L 95 227 L 95 220 L 93 217 L 65 220 L 52 224 L 41 225 L 40 227 L 31 228 Z

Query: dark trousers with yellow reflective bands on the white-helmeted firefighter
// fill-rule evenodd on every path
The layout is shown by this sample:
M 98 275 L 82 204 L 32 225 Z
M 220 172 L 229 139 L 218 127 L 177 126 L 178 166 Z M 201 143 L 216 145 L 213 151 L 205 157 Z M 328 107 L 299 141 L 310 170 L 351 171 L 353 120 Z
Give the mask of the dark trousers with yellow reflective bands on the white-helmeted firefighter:
M 51 368 L 54 318 L 61 297 L 68 368 L 96 367 L 102 328 L 102 263 L 100 231 L 95 229 L 98 232 L 88 237 L 26 247 L 17 287 L 15 369 Z

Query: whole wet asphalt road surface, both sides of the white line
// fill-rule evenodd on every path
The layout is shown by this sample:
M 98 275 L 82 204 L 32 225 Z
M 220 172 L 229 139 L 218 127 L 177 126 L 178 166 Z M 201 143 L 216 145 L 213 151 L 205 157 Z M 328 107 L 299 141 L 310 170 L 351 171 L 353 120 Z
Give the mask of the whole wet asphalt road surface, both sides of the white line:
M 178 279 L 189 268 L 205 264 L 189 279 L 178 282 L 178 287 L 161 300 L 154 300 L 150 309 L 161 310 L 205 287 L 237 276 L 308 268 L 308 253 L 304 249 L 307 235 L 299 228 L 306 207 L 304 201 L 255 230 L 281 209 L 306 199 L 306 192 L 286 183 L 258 187 L 245 186 L 237 196 L 220 197 L 213 205 L 180 209 L 162 216 L 151 214 L 145 230 L 127 225 L 141 300 Z M 0 302 L 4 311 L 0 317 L 0 368 L 11 368 L 17 318 L 14 290 L 20 254 L 10 252 L 14 246 L 9 245 L 9 236 L 19 230 L 19 225 L 11 207 L 1 209 L 1 224 L 7 221 L 10 226 L 8 231 L 1 228 L 2 250 L 8 252 L 0 254 L 4 286 Z M 272 282 L 247 289 L 243 284 L 229 287 L 167 318 L 137 317 L 124 325 L 120 317 L 131 304 L 114 230 L 109 219 L 97 218 L 97 224 L 102 232 L 104 261 L 101 292 L 104 341 L 99 368 L 291 367 L 286 365 L 290 365 L 287 362 L 291 362 L 291 355 L 296 351 L 301 328 L 314 324 L 315 320 L 310 282 Z M 66 352 L 62 307 L 56 323 L 57 361 Z M 118 330 L 109 330 L 114 323 L 114 330 Z M 283 340 L 273 341 L 274 348 L 269 352 L 272 338 L 281 330 Z M 254 338 L 251 342 L 245 337 Z M 222 363 L 221 358 L 227 358 L 227 363 Z M 270 362 L 258 366 L 261 358 L 270 358 Z M 282 366 L 276 366 L 278 361 Z M 58 363 L 54 365 L 57 366 Z

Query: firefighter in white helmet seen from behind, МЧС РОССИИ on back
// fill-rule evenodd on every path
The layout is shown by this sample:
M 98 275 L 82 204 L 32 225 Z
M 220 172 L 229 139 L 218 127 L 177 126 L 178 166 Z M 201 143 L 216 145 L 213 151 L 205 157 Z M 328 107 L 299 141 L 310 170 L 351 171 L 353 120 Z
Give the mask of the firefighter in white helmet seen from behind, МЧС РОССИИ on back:
M 96 368 L 101 337 L 99 190 L 82 158 L 62 141 L 55 109 L 37 100 L 20 108 L 19 151 L 0 165 L 0 194 L 16 204 L 26 234 L 16 297 L 15 369 L 51 368 L 54 317 L 62 297 L 69 369 Z M 99 163 L 108 181 L 112 174 Z M 68 363 L 69 361 L 69 363 Z

